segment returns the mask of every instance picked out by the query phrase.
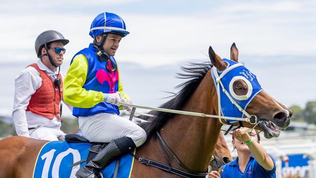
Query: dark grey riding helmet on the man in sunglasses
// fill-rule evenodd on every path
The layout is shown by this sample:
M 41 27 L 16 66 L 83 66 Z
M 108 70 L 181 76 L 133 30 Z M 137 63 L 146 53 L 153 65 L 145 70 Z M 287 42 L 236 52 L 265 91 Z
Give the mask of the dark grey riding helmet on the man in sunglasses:
M 45 43 L 51 43 L 54 41 L 60 41 L 64 45 L 69 43 L 68 39 L 65 39 L 61 33 L 54 31 L 54 30 L 48 30 L 43 33 L 41 33 L 39 36 L 37 36 L 35 40 L 35 52 L 37 54 L 37 57 L 41 55 L 41 49 L 45 45 Z

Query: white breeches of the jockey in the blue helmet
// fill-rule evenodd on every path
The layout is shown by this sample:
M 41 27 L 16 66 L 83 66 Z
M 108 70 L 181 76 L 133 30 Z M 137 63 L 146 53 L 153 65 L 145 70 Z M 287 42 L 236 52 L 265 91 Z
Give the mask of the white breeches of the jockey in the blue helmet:
M 135 123 L 116 113 L 98 113 L 79 117 L 79 129 L 90 142 L 111 142 L 121 137 L 131 138 L 139 147 L 146 141 L 146 132 Z

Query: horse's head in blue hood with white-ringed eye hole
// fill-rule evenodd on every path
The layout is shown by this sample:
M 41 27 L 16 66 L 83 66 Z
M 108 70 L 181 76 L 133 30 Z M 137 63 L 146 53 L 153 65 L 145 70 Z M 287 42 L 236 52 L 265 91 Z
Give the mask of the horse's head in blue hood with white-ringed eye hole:
M 264 131 L 265 138 L 278 137 L 280 130 L 290 124 L 292 112 L 269 96 L 261 88 L 256 75 L 238 63 L 235 43 L 230 48 L 231 60 L 220 58 L 211 47 L 209 55 L 215 67 L 211 73 L 223 115 L 237 118 L 257 117 L 259 129 Z

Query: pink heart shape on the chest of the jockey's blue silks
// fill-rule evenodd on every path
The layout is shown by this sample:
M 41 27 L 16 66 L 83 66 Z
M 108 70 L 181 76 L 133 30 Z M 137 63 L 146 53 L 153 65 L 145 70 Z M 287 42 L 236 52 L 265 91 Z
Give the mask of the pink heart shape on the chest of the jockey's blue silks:
M 106 81 L 110 87 L 109 93 L 115 93 L 115 83 L 119 80 L 119 72 L 106 72 L 103 69 L 99 69 L 96 73 L 98 82 L 103 85 Z

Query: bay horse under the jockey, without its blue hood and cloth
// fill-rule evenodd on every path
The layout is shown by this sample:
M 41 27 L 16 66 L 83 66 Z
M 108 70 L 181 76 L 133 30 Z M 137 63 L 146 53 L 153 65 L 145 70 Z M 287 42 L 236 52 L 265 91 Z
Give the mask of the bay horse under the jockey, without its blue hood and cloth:
M 218 71 L 225 71 L 228 64 L 223 62 L 211 47 L 209 56 L 211 63 L 192 64 L 191 67 L 183 68 L 187 73 L 182 76 L 190 80 L 180 84 L 178 87 L 181 90 L 176 97 L 163 104 L 162 108 L 219 115 L 220 106 L 211 68 L 213 65 Z M 230 49 L 230 58 L 238 62 L 238 50 L 234 43 Z M 248 90 L 241 80 L 234 82 L 233 89 L 236 89 L 237 94 Z M 263 121 L 257 127 L 263 130 L 266 138 L 279 136 L 280 129 L 285 129 L 290 124 L 291 111 L 263 90 L 256 94 L 245 110 L 251 115 L 256 115 L 259 121 Z M 183 165 L 194 172 L 206 173 L 222 123 L 214 118 L 166 112 L 157 112 L 155 115 L 157 117 L 152 122 L 142 125 L 147 132 L 147 141 L 137 149 L 136 155 L 168 165 L 163 150 L 159 149 L 157 133 L 160 133 Z M 227 124 L 226 121 L 223 123 Z M 243 122 L 243 125 L 248 128 L 254 126 L 246 122 Z M 0 178 L 32 178 L 36 157 L 46 142 L 17 136 L 1 140 Z M 184 170 L 176 160 L 170 161 L 173 167 Z M 130 178 L 179 176 L 135 160 Z

